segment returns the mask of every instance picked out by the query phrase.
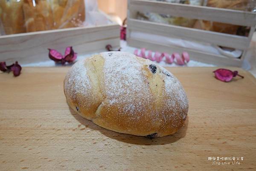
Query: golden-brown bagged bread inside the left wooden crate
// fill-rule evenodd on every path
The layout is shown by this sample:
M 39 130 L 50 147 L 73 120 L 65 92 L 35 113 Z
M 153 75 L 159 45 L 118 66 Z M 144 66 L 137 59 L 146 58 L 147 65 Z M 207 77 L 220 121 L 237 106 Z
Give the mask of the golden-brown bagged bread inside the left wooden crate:
M 84 0 L 0 0 L 1 35 L 81 26 Z

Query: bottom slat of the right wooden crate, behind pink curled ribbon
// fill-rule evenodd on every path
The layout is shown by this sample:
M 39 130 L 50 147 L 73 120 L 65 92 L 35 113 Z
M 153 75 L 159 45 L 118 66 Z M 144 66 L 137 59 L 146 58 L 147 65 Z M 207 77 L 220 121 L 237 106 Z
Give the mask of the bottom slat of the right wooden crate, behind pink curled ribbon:
M 227 58 L 222 55 L 215 55 L 207 52 L 201 52 L 201 51 L 187 49 L 183 47 L 170 46 L 170 45 L 156 43 L 156 42 L 149 43 L 148 41 L 143 39 L 128 38 L 127 42 L 129 46 L 133 46 L 137 48 L 144 47 L 146 49 L 151 49 L 151 50 L 160 51 L 160 52 L 167 52 L 171 54 L 173 52 L 182 53 L 186 51 L 189 53 L 189 56 L 192 60 L 209 63 L 209 64 L 215 64 L 218 66 L 241 67 L 241 64 L 242 64 L 242 61 L 237 58 Z

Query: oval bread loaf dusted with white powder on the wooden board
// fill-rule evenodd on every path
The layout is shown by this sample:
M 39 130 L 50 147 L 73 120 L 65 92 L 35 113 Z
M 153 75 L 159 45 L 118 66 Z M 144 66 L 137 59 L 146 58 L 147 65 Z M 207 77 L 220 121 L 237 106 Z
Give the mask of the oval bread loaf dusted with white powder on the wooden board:
M 64 80 L 67 103 L 82 117 L 119 133 L 160 137 L 177 132 L 188 100 L 172 73 L 127 52 L 76 62 Z

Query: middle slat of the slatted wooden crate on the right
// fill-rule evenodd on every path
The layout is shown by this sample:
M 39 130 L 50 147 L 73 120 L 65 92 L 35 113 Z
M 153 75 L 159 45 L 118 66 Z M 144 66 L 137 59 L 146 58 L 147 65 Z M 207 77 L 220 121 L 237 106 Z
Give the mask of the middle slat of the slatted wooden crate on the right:
M 230 35 L 136 19 L 128 20 L 128 28 L 132 31 L 136 30 L 149 34 L 157 34 L 169 37 L 176 36 L 187 40 L 202 41 L 236 49 L 247 49 L 248 44 L 250 43 L 249 38 L 244 36 Z

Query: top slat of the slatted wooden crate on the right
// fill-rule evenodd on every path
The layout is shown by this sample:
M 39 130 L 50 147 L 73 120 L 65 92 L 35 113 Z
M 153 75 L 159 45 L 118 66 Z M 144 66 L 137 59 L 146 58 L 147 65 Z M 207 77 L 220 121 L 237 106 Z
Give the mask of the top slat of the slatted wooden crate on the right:
M 180 3 L 166 3 L 148 0 L 130 0 L 129 10 L 170 14 L 176 17 L 210 20 L 240 26 L 255 26 L 256 14 L 232 9 L 219 9 L 207 6 L 193 6 Z M 133 16 L 131 16 L 133 17 Z

